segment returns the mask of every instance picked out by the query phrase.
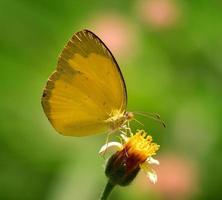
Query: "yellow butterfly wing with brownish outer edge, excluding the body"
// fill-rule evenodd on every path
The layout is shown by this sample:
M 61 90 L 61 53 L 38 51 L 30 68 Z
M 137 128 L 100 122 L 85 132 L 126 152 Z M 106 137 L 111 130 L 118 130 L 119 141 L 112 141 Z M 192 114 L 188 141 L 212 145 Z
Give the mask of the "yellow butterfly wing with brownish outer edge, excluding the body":
M 63 135 L 101 133 L 110 114 L 124 112 L 126 103 L 124 79 L 109 49 L 88 30 L 74 34 L 42 96 L 53 127 Z

